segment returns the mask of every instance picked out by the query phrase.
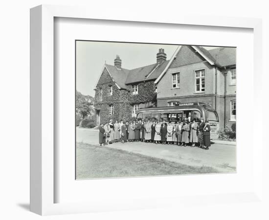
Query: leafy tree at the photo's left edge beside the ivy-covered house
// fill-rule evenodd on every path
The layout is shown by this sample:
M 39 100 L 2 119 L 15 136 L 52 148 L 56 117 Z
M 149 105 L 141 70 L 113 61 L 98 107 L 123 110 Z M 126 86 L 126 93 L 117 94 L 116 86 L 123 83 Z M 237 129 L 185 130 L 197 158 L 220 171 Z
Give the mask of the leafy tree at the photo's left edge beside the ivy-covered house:
M 93 114 L 94 99 L 90 95 L 83 95 L 76 91 L 76 113 L 86 118 L 89 114 Z

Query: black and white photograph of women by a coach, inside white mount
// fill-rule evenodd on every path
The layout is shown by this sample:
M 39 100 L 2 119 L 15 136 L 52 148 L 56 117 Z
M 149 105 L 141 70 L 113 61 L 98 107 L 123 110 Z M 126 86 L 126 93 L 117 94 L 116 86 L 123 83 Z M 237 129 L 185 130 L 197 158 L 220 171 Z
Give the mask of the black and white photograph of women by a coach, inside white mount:
M 76 41 L 76 179 L 236 172 L 236 48 Z

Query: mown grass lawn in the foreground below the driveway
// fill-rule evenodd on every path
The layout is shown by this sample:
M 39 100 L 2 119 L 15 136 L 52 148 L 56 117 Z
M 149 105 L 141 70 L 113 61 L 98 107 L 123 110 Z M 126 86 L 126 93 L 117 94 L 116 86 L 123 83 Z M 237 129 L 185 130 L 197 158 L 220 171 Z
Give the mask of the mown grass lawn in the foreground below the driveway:
M 77 179 L 218 173 L 211 167 L 189 166 L 85 143 L 76 144 L 76 166 Z

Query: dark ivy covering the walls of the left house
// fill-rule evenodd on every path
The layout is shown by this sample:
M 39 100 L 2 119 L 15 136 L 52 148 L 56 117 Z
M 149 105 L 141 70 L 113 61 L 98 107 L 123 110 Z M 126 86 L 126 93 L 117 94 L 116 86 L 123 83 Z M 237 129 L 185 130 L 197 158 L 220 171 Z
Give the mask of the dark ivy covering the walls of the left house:
M 140 82 L 138 94 L 133 95 L 132 85 L 129 90 L 119 89 L 113 82 L 111 76 L 104 69 L 95 90 L 95 123 L 97 124 L 97 111 L 99 111 L 100 123 L 107 123 L 110 119 L 131 120 L 133 105 L 138 104 L 139 108 L 155 107 L 157 103 L 157 93 L 155 92 L 154 81 Z M 112 95 L 110 89 L 112 86 Z M 100 93 L 102 89 L 102 101 Z M 111 105 L 114 106 L 114 113 L 110 114 Z

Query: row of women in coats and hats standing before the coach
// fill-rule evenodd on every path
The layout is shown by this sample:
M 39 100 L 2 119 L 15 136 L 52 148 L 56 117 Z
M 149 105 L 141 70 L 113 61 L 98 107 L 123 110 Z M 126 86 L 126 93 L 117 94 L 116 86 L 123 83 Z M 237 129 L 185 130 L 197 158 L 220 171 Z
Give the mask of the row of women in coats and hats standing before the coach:
M 129 124 L 128 121 L 118 123 L 110 120 L 109 123 L 99 126 L 99 143 L 109 144 L 113 142 L 134 142 L 144 141 L 155 144 L 174 144 L 178 146 L 191 145 L 198 146 L 205 150 L 210 146 L 210 125 L 208 121 L 203 122 L 200 118 L 198 123 L 195 119 L 192 121 L 185 118 L 172 125 L 165 121 L 151 123 L 148 121 L 137 120 Z

